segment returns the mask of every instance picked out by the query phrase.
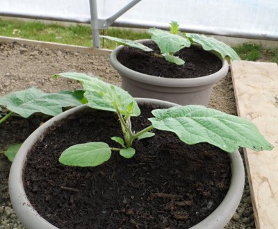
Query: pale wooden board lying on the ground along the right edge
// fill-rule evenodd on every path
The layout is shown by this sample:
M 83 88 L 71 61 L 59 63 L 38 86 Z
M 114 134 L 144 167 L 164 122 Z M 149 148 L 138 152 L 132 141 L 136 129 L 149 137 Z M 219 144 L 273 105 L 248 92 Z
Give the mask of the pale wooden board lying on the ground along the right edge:
M 278 228 L 278 66 L 235 61 L 231 73 L 238 116 L 250 119 L 272 151 L 245 149 L 256 228 Z

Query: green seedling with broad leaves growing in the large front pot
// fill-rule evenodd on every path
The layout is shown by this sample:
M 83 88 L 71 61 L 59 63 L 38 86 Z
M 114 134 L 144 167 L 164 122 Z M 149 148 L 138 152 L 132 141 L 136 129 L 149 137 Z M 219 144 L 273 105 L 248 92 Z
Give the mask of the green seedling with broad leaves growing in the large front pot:
M 136 149 L 132 147 L 133 141 L 152 137 L 154 133 L 151 131 L 154 128 L 175 133 L 186 144 L 208 142 L 229 153 L 240 146 L 254 151 L 273 148 L 250 121 L 202 105 L 178 105 L 153 110 L 154 117 L 148 119 L 152 125 L 134 133 L 131 128 L 131 117 L 138 117 L 140 109 L 128 92 L 85 74 L 61 73 L 54 77 L 58 76 L 79 80 L 83 84 L 84 96 L 88 100 L 89 107 L 116 112 L 123 136 L 111 137 L 119 144 L 119 148 L 112 148 L 105 142 L 70 146 L 60 155 L 59 162 L 62 164 L 95 167 L 109 160 L 112 151 L 119 151 L 124 158 L 132 158 L 136 153 Z

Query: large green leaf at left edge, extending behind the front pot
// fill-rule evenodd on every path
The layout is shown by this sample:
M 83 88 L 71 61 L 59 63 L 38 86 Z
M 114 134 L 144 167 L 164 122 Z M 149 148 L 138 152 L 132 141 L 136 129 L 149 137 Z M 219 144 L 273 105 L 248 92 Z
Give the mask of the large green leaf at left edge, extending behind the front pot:
M 74 92 L 63 91 L 48 94 L 32 87 L 0 97 L 0 105 L 27 118 L 35 112 L 55 116 L 63 112 L 63 107 L 81 105 L 81 102 L 76 99 Z

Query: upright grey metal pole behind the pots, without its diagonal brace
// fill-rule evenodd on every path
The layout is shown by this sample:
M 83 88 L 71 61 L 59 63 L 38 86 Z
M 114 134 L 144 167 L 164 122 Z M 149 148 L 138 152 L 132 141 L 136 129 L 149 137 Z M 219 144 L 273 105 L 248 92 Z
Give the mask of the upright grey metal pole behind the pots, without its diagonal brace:
M 97 0 L 90 1 L 90 15 L 91 15 L 91 28 L 92 28 L 92 46 L 100 48 L 99 42 L 99 18 L 97 15 Z

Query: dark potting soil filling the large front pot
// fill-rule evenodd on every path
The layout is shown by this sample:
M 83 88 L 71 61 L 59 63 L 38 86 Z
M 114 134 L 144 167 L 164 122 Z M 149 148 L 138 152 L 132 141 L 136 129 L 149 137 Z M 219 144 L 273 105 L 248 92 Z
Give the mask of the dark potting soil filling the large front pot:
M 133 118 L 133 129 L 149 125 L 150 108 Z M 107 142 L 121 136 L 113 112 L 87 109 L 47 131 L 28 153 L 26 194 L 58 228 L 189 228 L 222 201 L 231 178 L 228 153 L 208 144 L 188 146 L 173 133 L 156 130 L 134 142 L 136 155 L 113 151 L 99 167 L 67 167 L 60 153 L 73 144 Z

